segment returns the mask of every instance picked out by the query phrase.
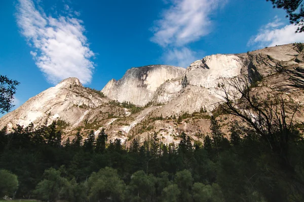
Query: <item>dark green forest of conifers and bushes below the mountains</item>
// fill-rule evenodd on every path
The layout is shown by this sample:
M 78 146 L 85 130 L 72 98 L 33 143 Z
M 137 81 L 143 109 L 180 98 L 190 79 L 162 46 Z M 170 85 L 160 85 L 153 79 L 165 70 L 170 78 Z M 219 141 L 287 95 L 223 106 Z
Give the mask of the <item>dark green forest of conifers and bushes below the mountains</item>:
M 154 133 L 125 148 L 102 130 L 61 140 L 56 122 L 0 131 L 0 171 L 18 177 L 10 196 L 44 201 L 304 201 L 304 142 L 296 127 L 290 168 L 255 130 L 231 125 L 230 140 L 211 118 L 204 144 L 181 134 L 164 145 Z M 8 173 L 9 173 L 8 172 Z M 1 172 L 0 172 L 1 173 Z M 5 194 L 4 189 L 0 194 Z M 6 192 L 8 194 L 8 192 Z

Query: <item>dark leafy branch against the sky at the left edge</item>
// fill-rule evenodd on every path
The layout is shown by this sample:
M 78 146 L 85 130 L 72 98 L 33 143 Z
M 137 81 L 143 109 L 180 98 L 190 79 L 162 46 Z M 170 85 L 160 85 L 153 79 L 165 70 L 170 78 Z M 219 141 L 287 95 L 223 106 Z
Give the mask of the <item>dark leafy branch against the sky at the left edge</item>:
M 9 112 L 13 107 L 16 86 L 20 83 L 11 80 L 7 76 L 0 75 L 0 114 Z

